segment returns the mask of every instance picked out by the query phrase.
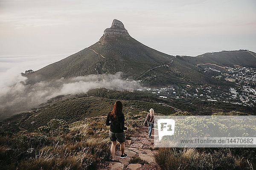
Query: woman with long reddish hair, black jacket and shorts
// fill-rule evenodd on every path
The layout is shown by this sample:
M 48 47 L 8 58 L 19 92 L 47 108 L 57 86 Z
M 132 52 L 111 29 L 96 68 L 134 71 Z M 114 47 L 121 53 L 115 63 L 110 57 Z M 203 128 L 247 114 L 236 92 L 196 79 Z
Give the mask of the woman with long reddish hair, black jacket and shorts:
M 115 159 L 116 140 L 120 143 L 121 156 L 124 159 L 127 157 L 125 153 L 125 115 L 122 113 L 122 102 L 116 101 L 113 110 L 108 113 L 106 125 L 110 125 L 109 139 L 111 140 L 111 156 L 112 160 Z

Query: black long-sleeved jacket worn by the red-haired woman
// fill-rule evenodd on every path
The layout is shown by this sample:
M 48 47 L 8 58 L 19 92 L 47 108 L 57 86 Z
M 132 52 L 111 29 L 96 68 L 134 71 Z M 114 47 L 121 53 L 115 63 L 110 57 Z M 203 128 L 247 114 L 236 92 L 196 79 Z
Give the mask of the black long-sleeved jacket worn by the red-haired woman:
M 106 125 L 110 125 L 110 131 L 113 133 L 122 133 L 124 130 L 127 130 L 127 127 L 125 127 L 125 115 L 119 114 L 117 117 L 117 121 L 111 121 L 110 114 L 108 113 L 107 119 L 106 119 Z

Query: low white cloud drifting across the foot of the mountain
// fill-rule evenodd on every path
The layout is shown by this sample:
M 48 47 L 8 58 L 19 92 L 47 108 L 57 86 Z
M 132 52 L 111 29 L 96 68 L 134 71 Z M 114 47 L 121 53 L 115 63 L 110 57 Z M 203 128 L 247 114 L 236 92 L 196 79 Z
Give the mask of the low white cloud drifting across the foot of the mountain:
M 13 71 L 11 71 L 13 72 Z M 25 85 L 26 77 L 12 75 L 0 84 L 0 119 L 15 113 L 29 111 L 48 99 L 66 94 L 86 93 L 93 88 L 130 90 L 142 88 L 138 82 L 121 79 L 121 72 L 116 74 L 98 74 L 70 79 L 58 79 L 50 82 L 38 82 Z

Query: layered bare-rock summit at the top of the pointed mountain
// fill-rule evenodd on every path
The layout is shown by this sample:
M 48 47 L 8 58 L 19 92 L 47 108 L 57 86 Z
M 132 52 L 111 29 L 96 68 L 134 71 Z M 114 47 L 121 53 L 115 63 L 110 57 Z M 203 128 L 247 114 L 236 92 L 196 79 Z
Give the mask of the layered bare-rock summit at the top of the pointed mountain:
M 104 31 L 105 36 L 113 36 L 113 35 L 124 35 L 129 36 L 128 31 L 125 29 L 124 24 L 119 20 L 113 20 L 110 28 L 106 28 Z

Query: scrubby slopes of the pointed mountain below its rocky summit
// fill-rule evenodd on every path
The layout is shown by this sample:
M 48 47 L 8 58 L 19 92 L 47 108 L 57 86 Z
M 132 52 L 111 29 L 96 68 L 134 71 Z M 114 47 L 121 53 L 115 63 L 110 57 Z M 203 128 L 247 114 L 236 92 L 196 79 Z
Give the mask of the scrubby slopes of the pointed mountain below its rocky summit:
M 27 75 L 31 81 L 89 74 L 114 74 L 119 71 L 124 72 L 126 77 L 136 77 L 143 71 L 169 62 L 172 57 L 149 48 L 132 37 L 105 38 L 76 54 Z

